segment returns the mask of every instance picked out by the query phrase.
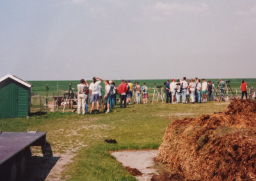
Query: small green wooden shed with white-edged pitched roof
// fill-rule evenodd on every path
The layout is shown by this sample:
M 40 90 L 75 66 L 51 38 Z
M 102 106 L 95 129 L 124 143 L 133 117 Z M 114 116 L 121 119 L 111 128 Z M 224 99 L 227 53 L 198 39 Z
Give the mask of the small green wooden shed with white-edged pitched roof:
M 14 75 L 0 79 L 0 118 L 28 116 L 31 106 L 31 87 Z

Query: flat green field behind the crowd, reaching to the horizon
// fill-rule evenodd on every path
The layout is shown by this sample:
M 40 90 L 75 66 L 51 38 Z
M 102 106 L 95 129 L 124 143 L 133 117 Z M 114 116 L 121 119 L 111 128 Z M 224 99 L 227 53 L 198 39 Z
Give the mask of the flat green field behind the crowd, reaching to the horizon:
M 205 79 L 206 81 L 211 80 L 212 82 L 216 83 L 218 82 L 218 79 Z M 230 87 L 236 93 L 236 90 L 238 93 L 241 93 L 240 91 L 240 84 L 242 79 L 223 79 L 230 80 Z M 148 88 L 154 88 L 154 83 L 156 83 L 156 86 L 164 86 L 164 83 L 166 82 L 165 79 L 156 79 L 156 80 L 136 80 L 136 82 L 139 82 L 140 85 L 143 83 L 146 83 Z M 67 93 L 69 89 L 69 84 L 72 83 L 72 88 L 74 91 L 77 91 L 76 85 L 79 84 L 79 81 L 28 81 L 29 83 L 33 84 L 32 92 L 35 93 L 35 95 L 46 95 L 45 86 L 48 84 L 49 96 L 56 96 L 57 95 L 57 82 L 59 84 L 59 95 L 63 95 L 63 93 Z M 88 81 L 90 84 L 92 81 Z M 116 86 L 120 84 L 120 81 L 116 81 Z M 131 83 L 134 83 L 134 80 L 131 80 Z M 246 79 L 246 83 L 248 84 L 248 88 L 252 86 L 253 88 L 256 88 L 256 79 Z M 104 83 L 101 83 L 102 88 L 104 88 Z M 153 90 L 149 90 L 149 93 L 152 93 Z

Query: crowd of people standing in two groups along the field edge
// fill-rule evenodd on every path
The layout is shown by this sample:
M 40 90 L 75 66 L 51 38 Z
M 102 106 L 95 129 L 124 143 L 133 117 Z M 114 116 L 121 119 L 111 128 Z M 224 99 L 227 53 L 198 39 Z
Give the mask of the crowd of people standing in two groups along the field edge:
M 77 84 L 77 114 L 81 114 L 81 107 L 83 114 L 88 113 L 89 95 L 90 101 L 92 102 L 92 114 L 94 114 L 95 111 L 99 114 L 100 107 L 102 112 L 109 113 L 110 109 L 116 105 L 116 95 L 120 97 L 120 108 L 125 108 L 127 104 L 132 104 L 133 92 L 135 92 L 136 104 L 141 103 L 141 98 L 143 104 L 147 104 L 148 102 L 148 87 L 145 83 L 143 86 L 140 86 L 138 82 L 133 85 L 131 81 L 122 80 L 116 88 L 114 81 L 105 80 L 105 94 L 102 97 L 102 87 L 100 86 L 102 81 L 103 80 L 99 77 L 93 77 L 90 85 L 84 79 L 81 79 L 80 84 Z M 218 89 L 220 89 L 222 101 L 225 101 L 225 86 L 226 82 L 219 79 Z M 247 99 L 246 90 L 247 84 L 243 79 L 241 83 L 242 98 L 245 95 Z M 197 77 L 195 77 L 195 79 L 189 79 L 189 81 L 186 77 L 177 80 L 172 79 L 171 83 L 167 80 L 164 91 L 166 92 L 166 103 L 170 102 L 172 104 L 180 103 L 180 98 L 183 104 L 188 102 L 195 104 L 212 101 L 214 100 L 213 94 L 216 92 L 212 81 L 206 82 L 205 79 L 202 79 L 201 83 L 201 80 Z M 105 104 L 103 100 L 105 100 Z

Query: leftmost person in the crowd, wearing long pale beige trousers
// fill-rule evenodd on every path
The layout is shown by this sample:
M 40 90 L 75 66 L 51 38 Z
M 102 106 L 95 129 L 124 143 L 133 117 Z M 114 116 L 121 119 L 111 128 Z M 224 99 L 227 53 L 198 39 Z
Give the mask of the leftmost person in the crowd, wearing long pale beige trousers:
M 86 98 L 86 83 L 84 79 L 81 79 L 80 84 L 77 84 L 77 114 L 81 113 L 81 107 L 83 110 L 83 114 L 85 114 Z

